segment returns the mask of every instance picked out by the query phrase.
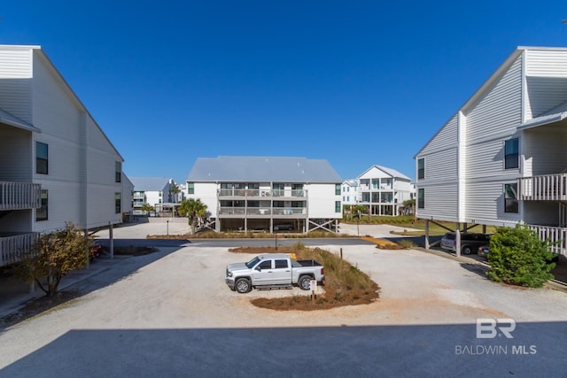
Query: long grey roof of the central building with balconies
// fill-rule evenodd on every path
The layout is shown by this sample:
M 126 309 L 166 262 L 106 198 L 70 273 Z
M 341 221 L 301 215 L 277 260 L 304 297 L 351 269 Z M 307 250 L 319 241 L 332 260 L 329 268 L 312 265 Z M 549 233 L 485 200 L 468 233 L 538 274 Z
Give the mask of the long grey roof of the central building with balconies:
M 342 182 L 327 160 L 266 156 L 198 158 L 187 181 Z

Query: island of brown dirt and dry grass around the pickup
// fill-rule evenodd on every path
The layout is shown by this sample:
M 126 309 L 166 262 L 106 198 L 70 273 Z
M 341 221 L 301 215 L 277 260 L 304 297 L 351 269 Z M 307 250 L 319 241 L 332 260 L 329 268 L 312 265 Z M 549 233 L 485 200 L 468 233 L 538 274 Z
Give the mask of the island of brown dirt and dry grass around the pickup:
M 305 247 L 240 247 L 230 249 L 236 253 L 295 253 L 298 259 L 314 258 L 325 268 L 325 292 L 312 298 L 307 292 L 305 296 L 256 298 L 252 305 L 271 310 L 313 311 L 325 310 L 346 305 L 369 305 L 379 297 L 380 288 L 356 266 L 320 249 Z M 324 253 L 322 253 L 324 252 Z M 322 260 L 322 261 L 321 261 Z M 329 262 L 326 264 L 325 261 Z M 354 278 L 353 278 L 354 277 Z

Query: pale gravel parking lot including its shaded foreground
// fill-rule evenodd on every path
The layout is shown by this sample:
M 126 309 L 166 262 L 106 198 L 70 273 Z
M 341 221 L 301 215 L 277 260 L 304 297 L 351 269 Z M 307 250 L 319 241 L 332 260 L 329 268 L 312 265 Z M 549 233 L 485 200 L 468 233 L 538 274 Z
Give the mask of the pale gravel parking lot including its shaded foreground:
M 152 226 L 136 227 L 118 228 L 115 237 L 144 235 Z M 376 236 L 382 232 L 389 234 L 376 230 Z M 325 248 L 337 253 L 342 248 L 347 260 L 380 285 L 381 298 L 322 312 L 260 309 L 250 304 L 252 297 L 306 292 L 238 295 L 223 282 L 224 267 L 252 256 L 230 253 L 214 241 L 192 241 L 122 258 L 76 284 L 89 294 L 4 329 L 0 375 L 564 376 L 567 371 L 565 293 L 489 282 L 479 266 L 423 251 L 338 247 L 332 240 Z M 478 318 L 515 320 L 515 338 L 478 339 Z M 537 352 L 513 354 L 519 345 L 528 352 L 535 346 Z M 464 346 L 483 353 L 464 353 Z M 505 347 L 507 353 L 488 353 L 487 347 Z

